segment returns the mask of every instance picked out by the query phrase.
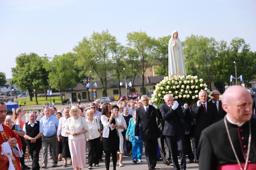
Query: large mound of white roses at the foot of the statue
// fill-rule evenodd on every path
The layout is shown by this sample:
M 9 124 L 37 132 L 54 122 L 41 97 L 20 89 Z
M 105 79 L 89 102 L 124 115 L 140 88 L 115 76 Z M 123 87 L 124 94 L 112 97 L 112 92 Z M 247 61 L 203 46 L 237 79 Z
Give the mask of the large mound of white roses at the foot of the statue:
M 155 103 L 159 109 L 165 103 L 163 97 L 166 94 L 171 94 L 174 100 L 181 105 L 196 103 L 199 100 L 198 94 L 202 90 L 207 92 L 209 98 L 213 98 L 207 84 L 203 82 L 203 79 L 198 80 L 197 76 L 174 76 L 174 78 L 166 76 L 160 83 L 156 84 L 150 103 Z

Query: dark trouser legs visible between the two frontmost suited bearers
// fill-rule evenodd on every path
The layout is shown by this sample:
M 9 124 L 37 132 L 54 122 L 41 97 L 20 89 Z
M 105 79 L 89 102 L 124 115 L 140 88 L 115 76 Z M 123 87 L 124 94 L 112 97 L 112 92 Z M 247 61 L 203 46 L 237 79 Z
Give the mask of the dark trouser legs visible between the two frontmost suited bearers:
M 159 149 L 160 149 L 160 154 L 161 157 L 163 158 L 163 161 L 168 161 L 171 160 L 171 153 L 169 150 L 169 146 L 166 141 L 166 137 L 163 135 L 160 138 L 157 139 Z

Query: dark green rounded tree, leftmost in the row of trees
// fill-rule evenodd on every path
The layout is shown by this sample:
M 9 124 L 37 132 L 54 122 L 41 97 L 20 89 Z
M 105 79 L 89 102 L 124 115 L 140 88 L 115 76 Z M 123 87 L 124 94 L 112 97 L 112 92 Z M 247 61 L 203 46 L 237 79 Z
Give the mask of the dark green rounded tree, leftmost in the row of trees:
M 28 90 L 30 101 L 32 101 L 33 93 L 35 102 L 38 105 L 37 93 L 42 90 L 45 84 L 45 78 L 48 76 L 45 68 L 43 68 L 43 59 L 35 53 L 22 53 L 16 57 L 16 67 L 12 68 L 11 80 L 12 84 L 16 84 L 20 90 Z

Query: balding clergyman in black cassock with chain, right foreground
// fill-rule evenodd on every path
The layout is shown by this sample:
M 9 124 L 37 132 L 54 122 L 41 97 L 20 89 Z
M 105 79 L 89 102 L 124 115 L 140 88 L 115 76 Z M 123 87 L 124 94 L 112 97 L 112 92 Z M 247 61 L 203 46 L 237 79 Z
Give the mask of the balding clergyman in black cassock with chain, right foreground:
M 252 118 L 251 94 L 232 86 L 223 94 L 225 118 L 201 133 L 200 170 L 255 170 L 256 119 Z

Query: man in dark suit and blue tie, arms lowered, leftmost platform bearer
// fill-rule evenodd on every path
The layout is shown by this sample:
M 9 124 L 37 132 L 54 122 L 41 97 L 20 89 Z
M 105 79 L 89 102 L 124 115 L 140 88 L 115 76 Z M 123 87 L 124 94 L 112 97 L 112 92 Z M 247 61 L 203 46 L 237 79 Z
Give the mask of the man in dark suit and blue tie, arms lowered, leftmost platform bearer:
M 154 106 L 148 104 L 149 99 L 146 95 L 141 96 L 141 102 L 143 106 L 136 110 L 134 135 L 139 139 L 139 124 L 141 123 L 140 131 L 144 141 L 148 169 L 153 170 L 156 167 L 157 139 L 160 137 L 156 117 L 160 119 L 160 115 Z

